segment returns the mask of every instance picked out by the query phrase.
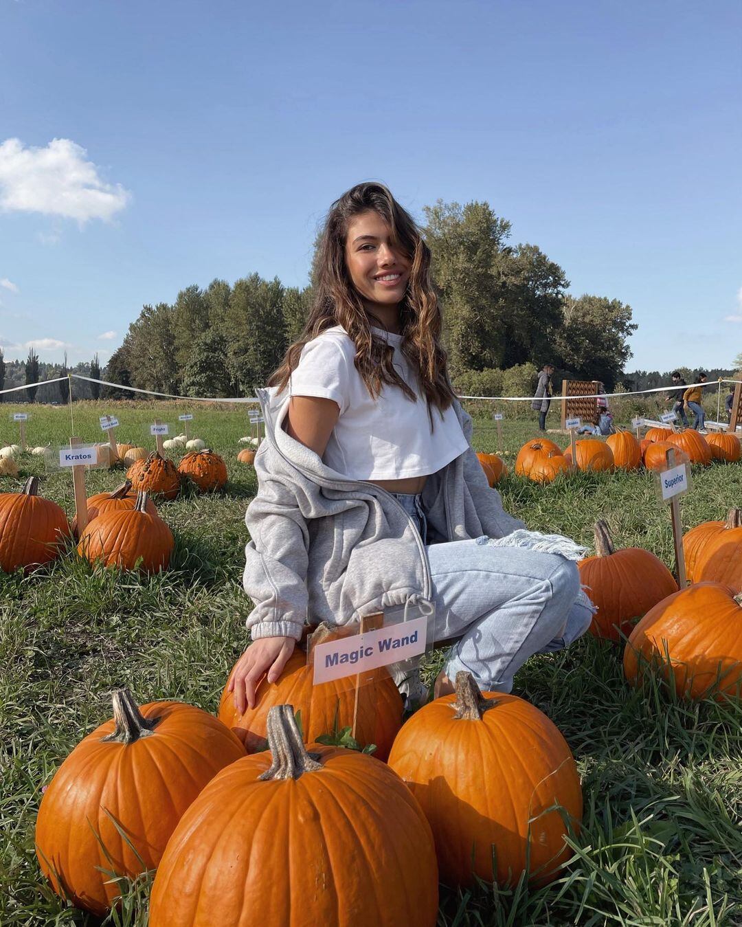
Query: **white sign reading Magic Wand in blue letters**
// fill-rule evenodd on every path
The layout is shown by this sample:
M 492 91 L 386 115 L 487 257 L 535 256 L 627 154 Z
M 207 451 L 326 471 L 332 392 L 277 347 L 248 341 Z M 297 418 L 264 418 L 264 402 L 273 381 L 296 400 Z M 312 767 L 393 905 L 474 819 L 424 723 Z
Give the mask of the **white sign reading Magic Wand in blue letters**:
M 413 618 L 388 628 L 318 643 L 314 656 L 314 684 L 344 679 L 369 669 L 388 667 L 425 651 L 427 617 Z

